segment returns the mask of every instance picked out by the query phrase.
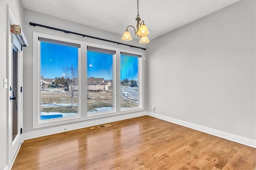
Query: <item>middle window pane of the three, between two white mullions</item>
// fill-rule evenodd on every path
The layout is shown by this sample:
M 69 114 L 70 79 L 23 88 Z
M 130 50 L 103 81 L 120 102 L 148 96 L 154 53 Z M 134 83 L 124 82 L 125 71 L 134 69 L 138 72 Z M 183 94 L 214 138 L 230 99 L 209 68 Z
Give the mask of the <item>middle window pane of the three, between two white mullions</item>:
M 113 54 L 87 51 L 87 112 L 113 111 Z

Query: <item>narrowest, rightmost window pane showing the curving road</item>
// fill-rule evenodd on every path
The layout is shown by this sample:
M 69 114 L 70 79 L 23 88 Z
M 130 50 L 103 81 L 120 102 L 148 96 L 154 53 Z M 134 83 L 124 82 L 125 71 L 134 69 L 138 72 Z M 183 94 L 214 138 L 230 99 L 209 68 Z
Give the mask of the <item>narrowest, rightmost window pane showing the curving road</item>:
M 121 109 L 138 107 L 138 57 L 121 54 Z

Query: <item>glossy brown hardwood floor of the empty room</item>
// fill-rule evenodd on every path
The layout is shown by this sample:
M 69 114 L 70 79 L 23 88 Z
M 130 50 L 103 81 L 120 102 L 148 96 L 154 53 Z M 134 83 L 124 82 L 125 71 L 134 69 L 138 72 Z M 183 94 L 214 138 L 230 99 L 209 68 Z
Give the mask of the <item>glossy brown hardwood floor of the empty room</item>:
M 149 116 L 25 140 L 13 170 L 256 169 L 256 149 Z

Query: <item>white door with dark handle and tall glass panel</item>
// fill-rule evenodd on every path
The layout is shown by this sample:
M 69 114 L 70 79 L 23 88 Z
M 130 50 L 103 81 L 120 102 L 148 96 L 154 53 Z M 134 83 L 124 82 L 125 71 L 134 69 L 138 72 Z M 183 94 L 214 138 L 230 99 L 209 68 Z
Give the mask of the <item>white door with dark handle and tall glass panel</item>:
M 9 162 L 10 166 L 13 163 L 16 152 L 21 144 L 21 113 L 22 113 L 22 71 L 23 71 L 23 55 L 21 52 L 21 45 L 16 35 L 12 35 L 12 56 L 9 59 L 9 144 L 10 154 Z

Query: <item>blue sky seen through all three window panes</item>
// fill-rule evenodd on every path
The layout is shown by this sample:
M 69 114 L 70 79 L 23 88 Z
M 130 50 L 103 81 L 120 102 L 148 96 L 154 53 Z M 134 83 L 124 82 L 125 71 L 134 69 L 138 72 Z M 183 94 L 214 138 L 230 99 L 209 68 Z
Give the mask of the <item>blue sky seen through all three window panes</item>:
M 78 65 L 78 48 L 41 42 L 41 75 L 44 78 L 61 77 L 62 66 Z M 121 81 L 138 80 L 138 58 L 121 55 Z M 87 77 L 113 79 L 113 55 L 87 51 Z

